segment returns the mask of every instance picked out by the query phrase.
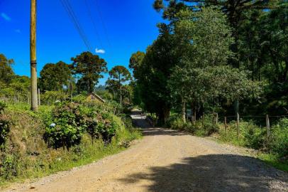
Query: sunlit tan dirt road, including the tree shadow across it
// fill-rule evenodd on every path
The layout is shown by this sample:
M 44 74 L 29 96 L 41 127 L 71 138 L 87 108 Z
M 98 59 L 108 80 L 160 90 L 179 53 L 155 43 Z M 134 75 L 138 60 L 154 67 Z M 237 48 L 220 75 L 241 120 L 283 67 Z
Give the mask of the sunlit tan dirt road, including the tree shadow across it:
M 288 191 L 288 174 L 244 149 L 133 119 L 144 138 L 126 151 L 8 191 Z

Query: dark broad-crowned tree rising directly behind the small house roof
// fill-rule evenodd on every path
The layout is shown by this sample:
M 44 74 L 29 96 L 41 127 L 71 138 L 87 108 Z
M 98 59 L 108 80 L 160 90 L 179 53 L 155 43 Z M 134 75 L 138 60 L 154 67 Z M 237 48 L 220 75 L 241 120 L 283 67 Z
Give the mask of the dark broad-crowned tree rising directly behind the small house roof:
M 72 74 L 78 78 L 78 91 L 93 92 L 99 78 L 103 78 L 101 73 L 107 71 L 106 61 L 100 58 L 99 55 L 93 55 L 90 52 L 81 53 L 75 58 L 71 58 L 71 60 L 73 61 L 70 65 Z

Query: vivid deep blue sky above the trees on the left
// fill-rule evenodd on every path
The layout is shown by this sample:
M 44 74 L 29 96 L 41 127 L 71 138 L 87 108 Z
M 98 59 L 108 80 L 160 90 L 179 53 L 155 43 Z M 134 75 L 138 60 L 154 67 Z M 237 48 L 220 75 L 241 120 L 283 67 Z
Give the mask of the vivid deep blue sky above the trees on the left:
M 145 51 L 157 38 L 156 24 L 162 18 L 153 10 L 153 0 L 87 1 L 96 30 L 85 1 L 70 0 L 94 53 L 96 48 L 105 51 L 99 55 L 107 61 L 109 69 L 114 65 L 128 67 L 131 54 Z M 38 0 L 37 19 L 38 74 L 46 63 L 59 60 L 71 63 L 71 57 L 87 50 L 60 0 Z M 29 23 L 30 1 L 0 0 L 0 53 L 13 58 L 13 69 L 18 75 L 30 76 Z

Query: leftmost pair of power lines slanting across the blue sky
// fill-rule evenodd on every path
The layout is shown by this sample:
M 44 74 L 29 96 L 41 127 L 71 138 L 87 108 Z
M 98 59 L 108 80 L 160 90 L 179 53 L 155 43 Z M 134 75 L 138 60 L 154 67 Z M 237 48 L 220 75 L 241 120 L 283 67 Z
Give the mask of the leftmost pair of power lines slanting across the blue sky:
M 72 23 L 74 23 L 75 28 L 77 29 L 80 37 L 82 38 L 82 41 L 84 42 L 85 46 L 87 47 L 87 49 L 92 52 L 92 46 L 88 41 L 88 38 L 86 36 L 86 34 L 84 33 L 82 26 L 80 25 L 76 14 L 74 13 L 72 6 L 70 4 L 69 0 L 60 0 L 62 3 L 62 6 L 64 7 L 64 9 L 67 11 L 67 14 L 70 16 L 70 19 L 72 21 Z

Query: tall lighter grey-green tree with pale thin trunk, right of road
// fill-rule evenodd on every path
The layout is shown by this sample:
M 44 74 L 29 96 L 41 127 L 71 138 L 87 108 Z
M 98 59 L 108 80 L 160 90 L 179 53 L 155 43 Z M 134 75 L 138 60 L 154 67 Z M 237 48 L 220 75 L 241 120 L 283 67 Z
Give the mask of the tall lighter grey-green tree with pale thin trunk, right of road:
M 203 8 L 197 12 L 189 9 L 179 11 L 172 29 L 179 41 L 174 48 L 179 60 L 172 70 L 168 87 L 172 100 L 181 101 L 182 119 L 185 121 L 187 102 L 191 103 L 194 111 L 196 103 L 204 103 L 195 92 L 195 86 L 201 87 L 194 84 L 198 74 L 196 69 L 226 65 L 228 58 L 233 55 L 229 50 L 233 38 L 226 16 L 215 7 Z

